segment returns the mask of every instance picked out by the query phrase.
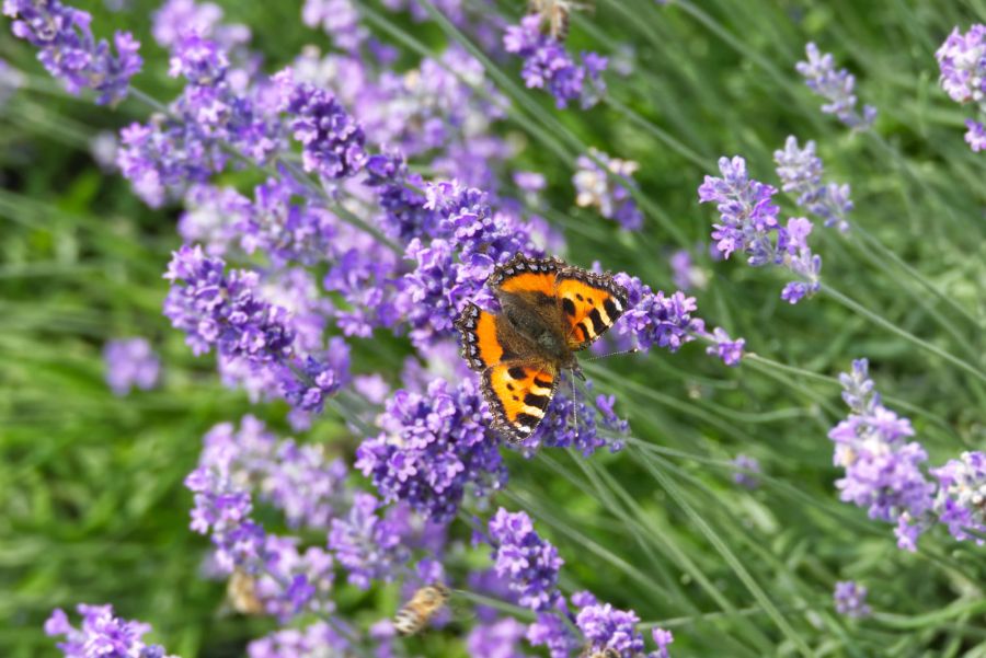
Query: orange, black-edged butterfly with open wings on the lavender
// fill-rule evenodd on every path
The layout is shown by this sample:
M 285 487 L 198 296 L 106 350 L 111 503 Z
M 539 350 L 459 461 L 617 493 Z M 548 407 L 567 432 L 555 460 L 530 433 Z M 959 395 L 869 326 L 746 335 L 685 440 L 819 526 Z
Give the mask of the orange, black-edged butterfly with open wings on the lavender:
M 455 325 L 462 335 L 462 357 L 482 374 L 493 428 L 519 442 L 544 418 L 561 370 L 583 378 L 575 353 L 619 320 L 627 289 L 608 272 L 524 254 L 497 266 L 486 285 L 501 312 L 469 302 Z

